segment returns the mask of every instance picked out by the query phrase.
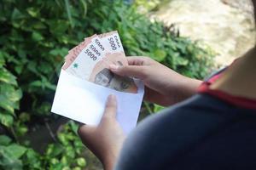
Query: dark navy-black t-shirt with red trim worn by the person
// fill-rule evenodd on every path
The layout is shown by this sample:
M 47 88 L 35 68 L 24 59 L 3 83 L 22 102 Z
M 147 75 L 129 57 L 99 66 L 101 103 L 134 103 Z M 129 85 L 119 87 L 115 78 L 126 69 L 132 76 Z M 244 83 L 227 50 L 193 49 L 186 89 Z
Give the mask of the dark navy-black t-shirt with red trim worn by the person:
M 256 169 L 256 110 L 196 94 L 140 122 L 115 169 Z

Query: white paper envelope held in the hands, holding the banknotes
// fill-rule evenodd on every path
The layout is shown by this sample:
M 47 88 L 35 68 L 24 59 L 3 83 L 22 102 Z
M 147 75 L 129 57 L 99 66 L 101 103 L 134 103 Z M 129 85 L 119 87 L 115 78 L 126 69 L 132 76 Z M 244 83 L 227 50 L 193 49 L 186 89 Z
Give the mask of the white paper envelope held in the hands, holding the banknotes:
M 51 111 L 88 125 L 97 125 L 102 118 L 109 94 L 117 97 L 117 120 L 125 133 L 137 125 L 143 101 L 143 82 L 135 80 L 137 94 L 123 93 L 69 75 L 61 69 Z

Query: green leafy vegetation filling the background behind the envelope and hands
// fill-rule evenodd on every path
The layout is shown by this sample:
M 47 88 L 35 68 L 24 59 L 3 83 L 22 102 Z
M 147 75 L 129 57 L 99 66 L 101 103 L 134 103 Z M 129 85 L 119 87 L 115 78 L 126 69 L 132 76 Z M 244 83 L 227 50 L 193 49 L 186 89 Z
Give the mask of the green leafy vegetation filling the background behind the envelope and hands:
M 151 22 L 119 0 L 3 0 L 0 3 L 0 169 L 86 167 L 78 125 L 61 126 L 44 153 L 26 139 L 33 127 L 55 122 L 55 84 L 69 48 L 95 33 L 118 30 L 127 55 L 145 55 L 179 73 L 205 77 L 210 48 L 180 37 L 173 26 Z M 170 31 L 172 30 L 172 31 Z M 174 80 L 175 81 L 175 80 Z M 145 104 L 148 112 L 162 109 Z M 89 165 L 90 166 L 90 165 Z

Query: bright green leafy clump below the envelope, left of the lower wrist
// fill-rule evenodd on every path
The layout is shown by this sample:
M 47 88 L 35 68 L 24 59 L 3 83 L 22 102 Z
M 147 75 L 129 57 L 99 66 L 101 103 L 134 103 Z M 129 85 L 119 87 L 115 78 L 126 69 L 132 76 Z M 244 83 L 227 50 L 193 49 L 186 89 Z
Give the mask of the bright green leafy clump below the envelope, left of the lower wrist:
M 77 135 L 78 125 L 69 122 L 58 133 L 58 142 L 49 144 L 44 155 L 44 166 L 47 169 L 81 169 L 86 166 L 81 156 L 84 145 Z

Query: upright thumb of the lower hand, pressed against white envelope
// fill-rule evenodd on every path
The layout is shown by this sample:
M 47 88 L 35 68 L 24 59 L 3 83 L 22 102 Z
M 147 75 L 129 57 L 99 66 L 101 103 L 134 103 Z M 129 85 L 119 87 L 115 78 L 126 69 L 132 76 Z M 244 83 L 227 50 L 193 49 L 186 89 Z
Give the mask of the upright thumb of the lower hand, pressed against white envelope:
M 113 94 L 111 94 L 108 96 L 108 100 L 107 100 L 105 111 L 103 113 L 102 118 L 115 118 L 116 111 L 117 111 L 116 97 Z

